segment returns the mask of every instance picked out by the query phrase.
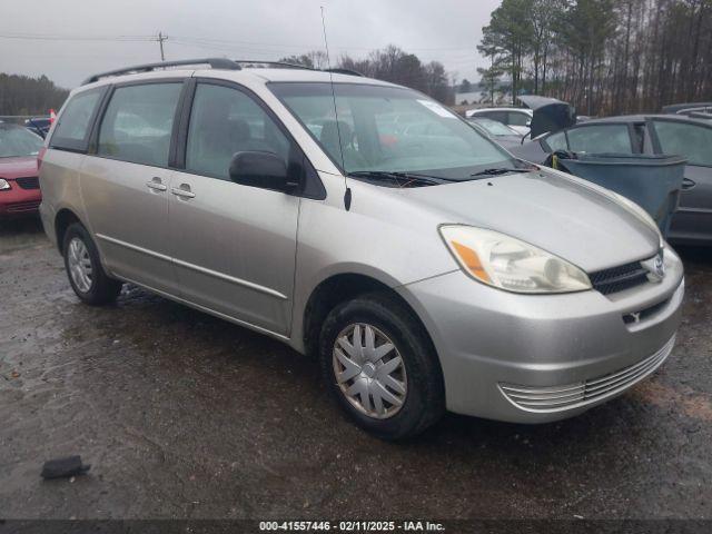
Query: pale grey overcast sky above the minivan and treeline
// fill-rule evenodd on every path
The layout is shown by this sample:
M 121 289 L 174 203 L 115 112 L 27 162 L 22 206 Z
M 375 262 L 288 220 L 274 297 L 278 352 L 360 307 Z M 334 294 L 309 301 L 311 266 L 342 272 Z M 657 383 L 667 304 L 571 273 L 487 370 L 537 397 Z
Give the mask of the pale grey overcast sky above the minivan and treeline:
M 476 80 L 482 27 L 500 0 L 0 0 L 0 72 L 47 75 L 73 88 L 87 76 L 166 59 L 279 59 L 324 49 L 364 57 L 394 43 Z M 42 40 L 33 36 L 43 36 Z M 67 40 L 72 38 L 73 40 Z M 96 40 L 101 38 L 105 40 Z M 141 40 L 142 39 L 142 40 Z

